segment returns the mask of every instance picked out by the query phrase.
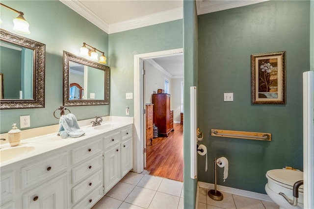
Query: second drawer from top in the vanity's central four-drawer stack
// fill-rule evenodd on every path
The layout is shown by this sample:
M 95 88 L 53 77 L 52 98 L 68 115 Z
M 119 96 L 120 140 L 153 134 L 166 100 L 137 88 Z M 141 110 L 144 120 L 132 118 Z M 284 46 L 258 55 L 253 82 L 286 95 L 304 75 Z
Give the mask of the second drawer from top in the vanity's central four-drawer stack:
M 99 155 L 91 160 L 72 168 L 72 184 L 76 184 L 86 176 L 90 176 L 103 165 L 103 156 Z

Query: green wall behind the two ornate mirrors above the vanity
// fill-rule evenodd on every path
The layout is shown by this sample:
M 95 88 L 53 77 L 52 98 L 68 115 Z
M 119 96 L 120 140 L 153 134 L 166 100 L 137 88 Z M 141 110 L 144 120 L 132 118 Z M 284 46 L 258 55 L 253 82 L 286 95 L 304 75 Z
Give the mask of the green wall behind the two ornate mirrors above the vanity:
M 52 114 L 63 103 L 63 50 L 78 55 L 80 46 L 86 42 L 108 54 L 108 34 L 57 0 L 1 0 L 1 3 L 24 12 L 24 17 L 30 24 L 31 34 L 22 36 L 46 45 L 46 82 L 45 108 L 1 110 L 0 132 L 8 132 L 13 123 L 17 123 L 19 127 L 20 116 L 24 115 L 30 115 L 30 128 L 57 124 L 59 121 Z M 15 12 L 1 7 L 1 28 L 17 34 L 12 30 L 12 20 L 16 17 Z M 81 120 L 107 116 L 110 106 L 81 106 L 69 109 Z

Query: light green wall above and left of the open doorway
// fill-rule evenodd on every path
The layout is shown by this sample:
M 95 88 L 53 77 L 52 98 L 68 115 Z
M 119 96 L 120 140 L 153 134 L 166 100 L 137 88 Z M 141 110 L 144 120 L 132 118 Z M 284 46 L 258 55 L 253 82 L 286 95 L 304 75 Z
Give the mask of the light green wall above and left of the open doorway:
M 126 93 L 134 89 L 134 55 L 183 47 L 183 20 L 109 34 L 108 63 L 111 68 L 110 115 L 134 116 L 134 101 Z M 157 91 L 157 90 L 156 90 Z

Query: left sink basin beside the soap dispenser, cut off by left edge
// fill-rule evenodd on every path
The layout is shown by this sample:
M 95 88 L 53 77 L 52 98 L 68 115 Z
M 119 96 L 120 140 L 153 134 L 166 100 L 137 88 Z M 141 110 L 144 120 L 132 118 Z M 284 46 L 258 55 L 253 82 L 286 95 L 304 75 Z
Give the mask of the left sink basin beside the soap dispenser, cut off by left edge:
M 20 144 L 15 147 L 2 147 L 0 149 L 0 162 L 9 161 L 15 158 L 23 157 L 24 155 L 34 151 L 35 144 Z

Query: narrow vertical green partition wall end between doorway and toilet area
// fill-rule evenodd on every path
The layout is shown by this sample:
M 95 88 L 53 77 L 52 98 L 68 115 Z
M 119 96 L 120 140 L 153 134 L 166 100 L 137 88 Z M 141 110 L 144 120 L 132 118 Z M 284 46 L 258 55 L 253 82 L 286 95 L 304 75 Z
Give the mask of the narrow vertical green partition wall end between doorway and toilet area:
M 195 1 L 183 1 L 183 34 L 184 34 L 184 119 L 183 119 L 183 182 L 184 208 L 194 209 L 196 200 L 197 179 L 191 179 L 190 155 L 190 87 L 198 86 L 198 23 Z

